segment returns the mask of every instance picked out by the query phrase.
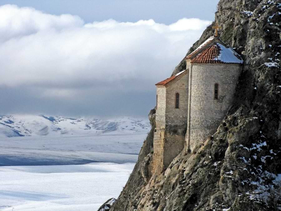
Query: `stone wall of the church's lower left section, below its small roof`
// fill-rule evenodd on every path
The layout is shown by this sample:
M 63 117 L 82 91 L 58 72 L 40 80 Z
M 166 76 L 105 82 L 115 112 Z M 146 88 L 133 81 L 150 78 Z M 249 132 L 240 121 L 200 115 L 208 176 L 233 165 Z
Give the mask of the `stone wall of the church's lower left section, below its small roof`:
M 161 173 L 184 148 L 187 126 L 188 73 L 166 86 L 157 86 L 156 129 L 153 140 L 153 173 Z M 179 93 L 179 108 L 175 94 Z

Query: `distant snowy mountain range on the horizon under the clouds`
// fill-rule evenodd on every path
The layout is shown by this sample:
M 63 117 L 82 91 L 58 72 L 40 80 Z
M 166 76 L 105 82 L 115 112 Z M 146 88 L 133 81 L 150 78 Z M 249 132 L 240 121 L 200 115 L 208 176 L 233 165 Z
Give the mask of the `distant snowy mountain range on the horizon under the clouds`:
M 66 118 L 45 115 L 0 116 L 0 137 L 148 133 L 146 118 Z

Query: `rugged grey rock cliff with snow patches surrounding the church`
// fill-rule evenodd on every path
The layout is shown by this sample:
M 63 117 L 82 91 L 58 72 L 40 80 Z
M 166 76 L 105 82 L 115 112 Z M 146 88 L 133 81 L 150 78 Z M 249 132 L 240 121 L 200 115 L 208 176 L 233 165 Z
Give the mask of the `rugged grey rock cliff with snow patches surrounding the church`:
M 215 20 L 220 39 L 244 57 L 232 106 L 195 154 L 181 152 L 160 175 L 150 173 L 152 110 L 152 129 L 111 211 L 281 210 L 281 2 L 221 0 Z M 209 26 L 187 54 L 213 35 Z M 184 69 L 181 61 L 173 74 Z

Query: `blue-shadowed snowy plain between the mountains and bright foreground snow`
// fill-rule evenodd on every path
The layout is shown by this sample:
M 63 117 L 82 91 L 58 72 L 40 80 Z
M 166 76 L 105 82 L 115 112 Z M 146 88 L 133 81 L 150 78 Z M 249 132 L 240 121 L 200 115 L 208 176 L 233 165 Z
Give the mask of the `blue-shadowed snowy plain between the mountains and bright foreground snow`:
M 146 133 L 106 133 L 0 138 L 0 166 L 135 163 L 145 137 Z

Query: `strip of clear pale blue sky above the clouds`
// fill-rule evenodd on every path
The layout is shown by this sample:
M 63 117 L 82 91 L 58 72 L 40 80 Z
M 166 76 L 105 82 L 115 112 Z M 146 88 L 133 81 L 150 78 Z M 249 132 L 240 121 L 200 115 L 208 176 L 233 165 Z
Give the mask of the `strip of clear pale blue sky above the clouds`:
M 1 0 L 0 5 L 33 7 L 45 13 L 78 15 L 85 22 L 114 19 L 136 22 L 153 19 L 171 24 L 181 18 L 213 20 L 219 0 Z

